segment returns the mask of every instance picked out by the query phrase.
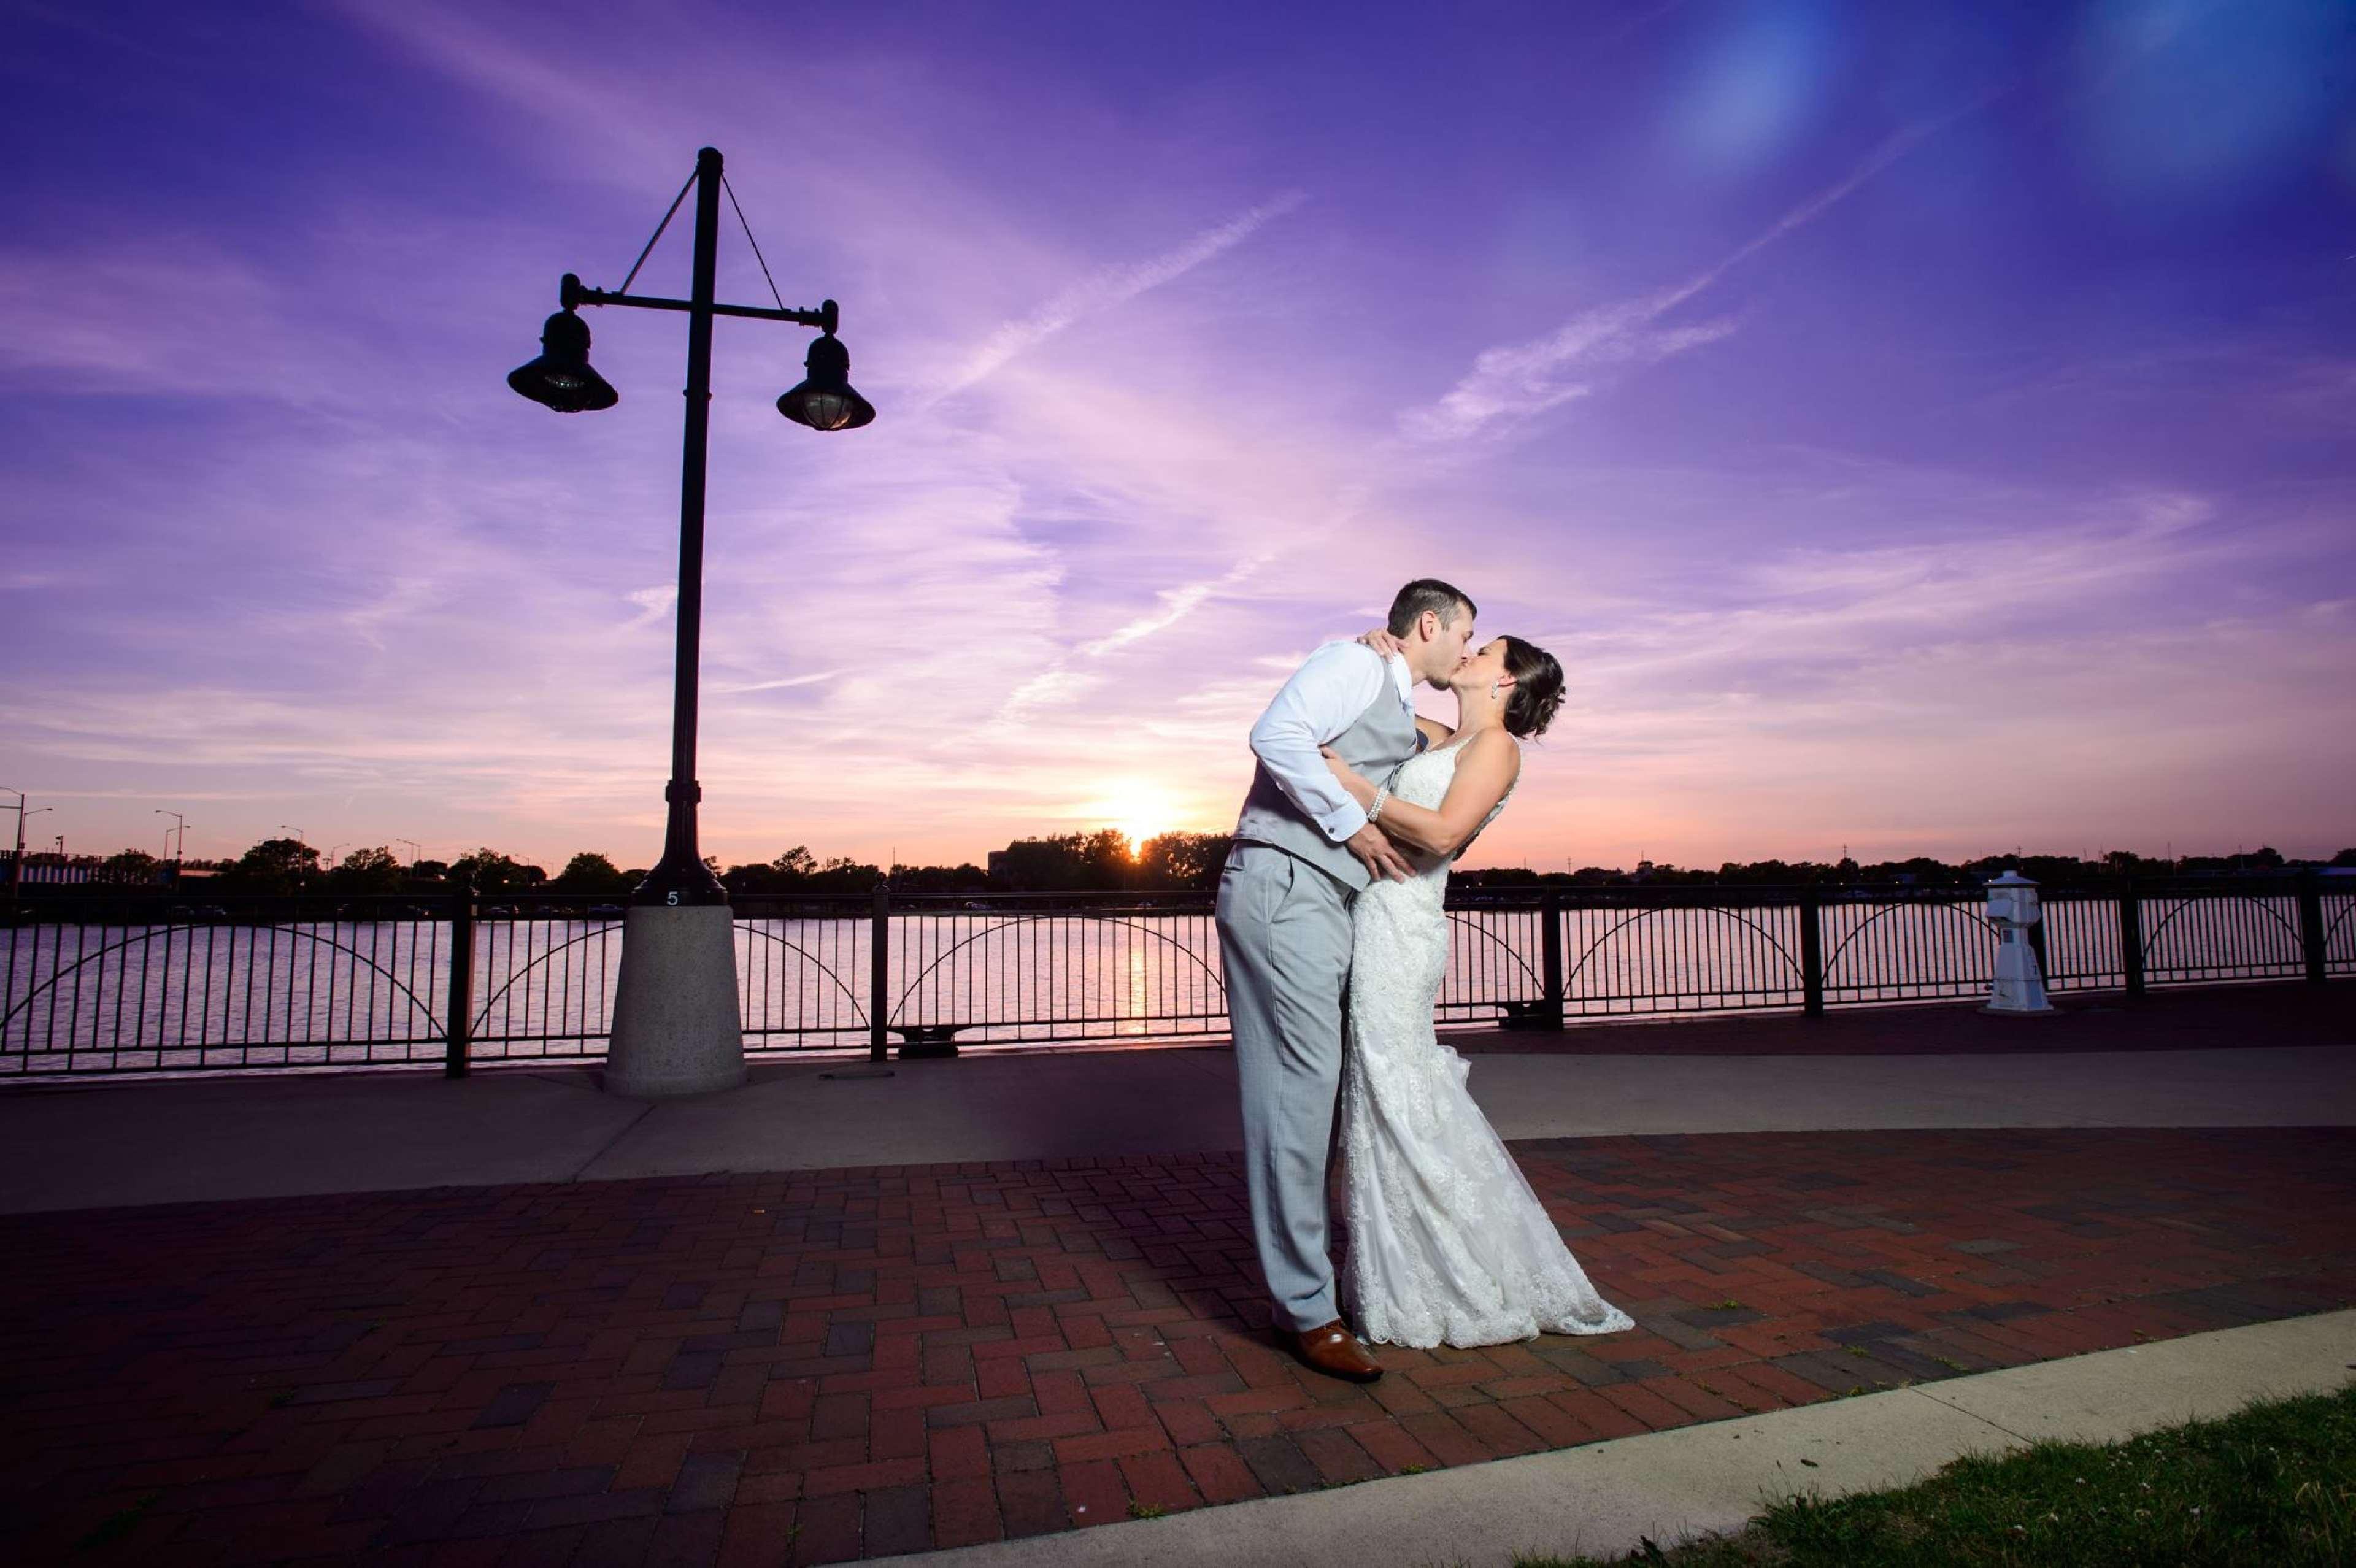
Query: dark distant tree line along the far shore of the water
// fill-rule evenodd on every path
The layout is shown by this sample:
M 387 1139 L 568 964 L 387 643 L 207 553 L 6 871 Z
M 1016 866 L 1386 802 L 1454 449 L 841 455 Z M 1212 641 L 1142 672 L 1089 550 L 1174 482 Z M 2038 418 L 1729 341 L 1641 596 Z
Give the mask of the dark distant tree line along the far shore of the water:
M 808 848 L 794 845 L 768 862 L 747 862 L 721 869 L 719 859 L 704 864 L 726 883 L 728 892 L 742 895 L 841 895 L 872 892 L 886 881 L 898 892 L 1152 892 L 1183 888 L 1216 888 L 1220 866 L 1227 864 L 1227 833 L 1162 833 L 1143 845 L 1112 829 L 1096 833 L 1060 833 L 1048 838 L 1018 838 L 990 855 L 990 866 L 964 862 L 957 866 L 884 866 L 848 857 L 818 859 Z M 26 855 L 26 864 L 57 862 L 57 855 Z M 104 859 L 78 855 L 71 864 L 92 866 L 101 883 L 155 885 L 165 881 L 172 862 L 146 850 L 123 850 Z M 188 869 L 212 871 L 210 885 L 224 892 L 431 892 L 448 885 L 471 885 L 476 892 L 580 892 L 627 897 L 646 878 L 643 866 L 622 869 L 596 852 L 580 852 L 565 862 L 563 871 L 549 876 L 547 869 L 525 859 L 478 848 L 457 859 L 419 859 L 401 864 L 389 845 L 353 850 L 337 864 L 325 864 L 320 852 L 297 838 L 264 838 L 231 862 L 184 862 Z M 1581 866 L 1576 871 L 1534 871 L 1529 866 L 1491 866 L 1484 871 L 1456 871 L 1456 881 L 1489 888 L 1682 888 L 1682 885 L 1915 885 L 1915 888 L 1974 888 L 2003 871 L 2047 883 L 2094 883 L 2125 876 L 2236 876 L 2252 871 L 2285 871 L 2302 866 L 2356 869 L 2356 848 L 2340 850 L 2330 859 L 2285 859 L 2271 848 L 2245 855 L 2186 855 L 2175 862 L 2111 850 L 2097 859 L 2076 855 L 1981 855 L 1960 864 L 1948 864 L 1918 855 L 1913 859 L 1885 859 L 1859 864 L 1838 862 L 1725 862 L 1718 869 L 1673 866 L 1637 862 L 1633 871 L 1619 866 Z

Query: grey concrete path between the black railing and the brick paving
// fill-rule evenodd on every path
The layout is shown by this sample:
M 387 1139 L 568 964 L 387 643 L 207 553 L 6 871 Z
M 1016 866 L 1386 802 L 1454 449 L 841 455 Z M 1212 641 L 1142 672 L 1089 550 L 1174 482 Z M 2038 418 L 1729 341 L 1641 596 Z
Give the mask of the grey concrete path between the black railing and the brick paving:
M 605 1095 L 594 1069 L 16 1085 L 0 1092 L 0 1212 L 1242 1147 L 1225 1048 L 829 1071 L 763 1064 L 740 1090 L 669 1102 Z M 2356 1052 L 1477 1055 L 1472 1092 L 1508 1140 L 2321 1128 L 2356 1125 Z

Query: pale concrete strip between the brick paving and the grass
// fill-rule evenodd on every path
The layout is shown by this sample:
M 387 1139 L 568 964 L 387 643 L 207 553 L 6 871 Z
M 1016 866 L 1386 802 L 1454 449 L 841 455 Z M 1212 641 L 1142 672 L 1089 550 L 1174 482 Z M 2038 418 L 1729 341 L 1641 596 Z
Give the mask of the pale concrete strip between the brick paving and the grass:
M 1670 1547 L 1741 1530 L 1793 1495 L 1901 1488 L 1963 1455 L 2043 1441 L 2116 1443 L 2257 1398 L 2328 1394 L 2351 1375 L 2356 1311 L 2328 1311 L 1520 1460 L 872 1561 L 1508 1568 L 1536 1554 L 1621 1556 L 1647 1540 Z

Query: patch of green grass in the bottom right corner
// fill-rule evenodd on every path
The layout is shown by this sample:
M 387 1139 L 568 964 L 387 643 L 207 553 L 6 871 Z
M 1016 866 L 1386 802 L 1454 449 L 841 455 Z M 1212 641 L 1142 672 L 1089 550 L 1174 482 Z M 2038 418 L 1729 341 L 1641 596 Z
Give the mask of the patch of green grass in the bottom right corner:
M 1739 1535 L 1515 1568 L 2325 1568 L 2356 1563 L 2356 1384 L 2123 1443 L 1967 1455 L 1892 1493 L 1793 1497 Z

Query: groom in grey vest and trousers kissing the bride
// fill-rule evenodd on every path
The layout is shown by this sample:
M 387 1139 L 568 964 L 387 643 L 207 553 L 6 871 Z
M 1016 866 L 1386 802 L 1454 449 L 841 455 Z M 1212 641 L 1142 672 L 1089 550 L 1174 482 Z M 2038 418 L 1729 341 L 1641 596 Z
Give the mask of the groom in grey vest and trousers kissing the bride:
M 1343 1321 L 1326 1255 L 1326 1151 L 1341 1095 L 1350 902 L 1374 878 L 1407 878 L 1383 831 L 1333 779 L 1331 746 L 1388 779 L 1423 746 L 1414 685 L 1447 680 L 1472 643 L 1472 600 L 1421 577 L 1390 600 L 1402 662 L 1326 643 L 1251 727 L 1258 768 L 1218 878 L 1235 1067 L 1244 1088 L 1251 1238 L 1268 1274 L 1277 1342 L 1331 1377 L 1383 1375 Z

